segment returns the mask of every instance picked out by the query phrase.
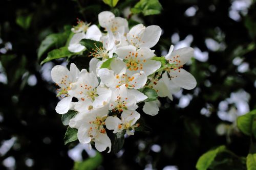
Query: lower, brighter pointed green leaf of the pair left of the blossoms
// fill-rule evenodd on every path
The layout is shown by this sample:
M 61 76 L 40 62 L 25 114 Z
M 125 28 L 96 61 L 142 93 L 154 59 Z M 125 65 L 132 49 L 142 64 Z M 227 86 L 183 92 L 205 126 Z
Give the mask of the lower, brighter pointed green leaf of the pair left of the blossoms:
M 51 60 L 54 60 L 54 59 L 59 59 L 59 58 L 63 58 L 63 57 L 70 57 L 72 55 L 76 55 L 77 53 L 71 53 L 69 50 L 68 50 L 68 47 L 67 46 L 64 46 L 64 47 L 61 47 L 59 49 L 55 49 L 53 51 L 50 51 L 47 55 L 47 58 L 45 60 L 42 60 L 42 62 L 40 63 L 41 65 L 46 63 L 46 62 L 49 62 Z

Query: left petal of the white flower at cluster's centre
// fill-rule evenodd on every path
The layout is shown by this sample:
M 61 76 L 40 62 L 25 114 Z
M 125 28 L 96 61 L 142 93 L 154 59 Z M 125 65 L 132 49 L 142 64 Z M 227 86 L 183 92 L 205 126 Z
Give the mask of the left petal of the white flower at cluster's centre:
M 114 71 L 109 70 L 108 68 L 101 68 L 98 71 L 98 75 L 100 80 L 108 87 L 112 87 L 115 76 L 114 76 Z

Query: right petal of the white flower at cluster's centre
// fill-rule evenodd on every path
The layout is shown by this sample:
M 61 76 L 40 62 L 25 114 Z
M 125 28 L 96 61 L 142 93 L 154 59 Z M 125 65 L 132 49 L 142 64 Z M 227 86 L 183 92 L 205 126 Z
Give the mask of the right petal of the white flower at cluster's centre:
M 129 85 L 131 85 L 134 89 L 140 89 L 145 86 L 147 77 L 144 71 L 140 71 L 140 73 L 136 73 L 131 76 L 134 78 L 132 81 L 129 81 Z

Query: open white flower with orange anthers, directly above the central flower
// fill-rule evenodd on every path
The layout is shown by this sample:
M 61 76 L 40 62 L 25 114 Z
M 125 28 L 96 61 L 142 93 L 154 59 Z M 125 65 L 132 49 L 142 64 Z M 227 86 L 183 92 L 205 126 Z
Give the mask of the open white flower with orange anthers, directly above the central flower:
M 153 74 L 161 67 L 160 61 L 151 60 L 155 56 L 154 52 L 147 47 L 136 50 L 133 45 L 122 46 L 116 50 L 118 57 L 126 63 L 128 75 L 144 71 L 146 76 Z

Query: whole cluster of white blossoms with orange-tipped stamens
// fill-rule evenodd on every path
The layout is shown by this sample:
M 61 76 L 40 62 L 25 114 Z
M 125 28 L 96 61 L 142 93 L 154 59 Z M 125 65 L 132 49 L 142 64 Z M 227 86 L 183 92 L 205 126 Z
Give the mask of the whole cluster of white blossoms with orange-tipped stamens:
M 160 102 L 157 97 L 168 97 L 180 88 L 193 89 L 195 78 L 183 65 L 193 56 L 193 48 L 173 51 L 171 45 L 166 56 L 156 57 L 151 47 L 161 36 L 159 26 L 136 25 L 129 30 L 125 18 L 104 11 L 98 15 L 102 33 L 96 25 L 78 20 L 68 46 L 72 53 L 87 50 L 82 39 L 99 41 L 90 52 L 93 56 L 87 69 L 79 70 L 71 63 L 70 70 L 57 65 L 52 69 L 52 79 L 60 87 L 57 96 L 62 99 L 56 112 L 65 114 L 77 111 L 69 127 L 78 129 L 81 143 L 95 143 L 98 151 L 109 148 L 111 140 L 106 130 L 133 135 L 140 126 L 138 103 L 143 112 L 156 115 Z M 153 92 L 153 93 L 152 93 Z M 155 93 L 154 93 L 155 92 Z M 156 94 L 155 98 L 148 93 Z M 77 102 L 74 99 L 76 98 Z M 73 101 L 72 101 L 73 100 Z

